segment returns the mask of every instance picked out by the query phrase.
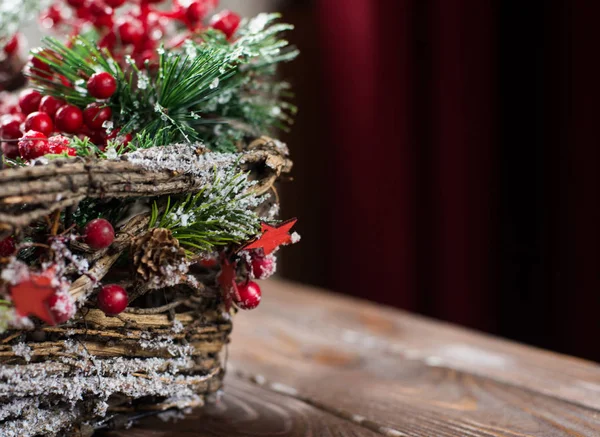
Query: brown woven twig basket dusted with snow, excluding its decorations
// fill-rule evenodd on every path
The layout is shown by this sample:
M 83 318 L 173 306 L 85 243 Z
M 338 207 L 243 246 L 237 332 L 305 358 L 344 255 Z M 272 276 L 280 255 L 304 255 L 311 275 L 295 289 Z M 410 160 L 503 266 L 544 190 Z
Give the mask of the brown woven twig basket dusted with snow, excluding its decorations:
M 268 193 L 291 169 L 287 148 L 268 138 L 240 146 L 238 154 L 174 145 L 115 160 L 75 158 L 4 169 L 0 234 L 19 232 L 85 198 L 197 192 L 211 183 L 215 166 L 232 165 L 251 172 L 258 193 Z M 273 209 L 275 198 L 267 196 L 259 213 Z M 91 435 L 152 412 L 201 406 L 221 388 L 232 323 L 218 266 L 192 268 L 192 283 L 152 289 L 127 265 L 115 265 L 147 232 L 148 221 L 147 212 L 132 214 L 105 250 L 70 243 L 90 263 L 86 275 L 73 277 L 70 293 L 79 305 L 71 321 L 0 335 L 1 436 Z M 108 317 L 96 309 L 99 281 L 129 282 L 134 291 L 126 312 Z

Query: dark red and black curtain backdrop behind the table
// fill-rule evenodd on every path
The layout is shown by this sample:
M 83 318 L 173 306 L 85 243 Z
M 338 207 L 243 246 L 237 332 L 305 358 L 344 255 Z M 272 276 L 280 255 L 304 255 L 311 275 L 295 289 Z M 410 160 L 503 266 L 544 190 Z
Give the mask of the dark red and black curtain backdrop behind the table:
M 600 2 L 280 9 L 284 276 L 600 360 Z

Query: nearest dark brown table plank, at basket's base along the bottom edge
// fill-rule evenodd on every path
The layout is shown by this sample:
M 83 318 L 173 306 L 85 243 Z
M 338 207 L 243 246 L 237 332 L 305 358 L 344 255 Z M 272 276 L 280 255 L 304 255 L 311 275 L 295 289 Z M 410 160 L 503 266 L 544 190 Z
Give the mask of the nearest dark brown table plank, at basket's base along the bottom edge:
M 368 429 L 301 400 L 235 376 L 227 382 L 227 394 L 217 404 L 197 409 L 185 420 L 173 423 L 147 419 L 135 428 L 98 437 L 377 437 Z

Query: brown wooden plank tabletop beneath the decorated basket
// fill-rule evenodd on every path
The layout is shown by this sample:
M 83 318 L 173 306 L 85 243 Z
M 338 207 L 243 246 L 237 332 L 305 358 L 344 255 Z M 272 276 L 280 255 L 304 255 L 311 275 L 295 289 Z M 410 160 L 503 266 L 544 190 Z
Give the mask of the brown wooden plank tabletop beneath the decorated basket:
M 107 435 L 600 436 L 594 363 L 299 285 L 263 292 L 236 316 L 221 402 Z

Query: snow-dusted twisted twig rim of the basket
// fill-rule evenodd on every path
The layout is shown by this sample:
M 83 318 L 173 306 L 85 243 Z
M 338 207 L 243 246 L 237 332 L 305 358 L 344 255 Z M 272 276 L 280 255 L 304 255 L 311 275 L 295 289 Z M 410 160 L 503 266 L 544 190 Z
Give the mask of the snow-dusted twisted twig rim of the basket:
M 286 154 L 287 149 L 274 140 L 263 140 L 241 154 L 213 153 L 201 145 L 173 145 L 138 150 L 120 161 L 62 159 L 27 169 L 0 170 L 0 232 L 28 226 L 86 197 L 195 192 L 213 181 L 215 168 L 225 170 L 238 162 L 250 171 L 262 169 L 255 190 L 266 193 L 277 177 L 291 170 Z M 26 210 L 20 207 L 24 203 Z

